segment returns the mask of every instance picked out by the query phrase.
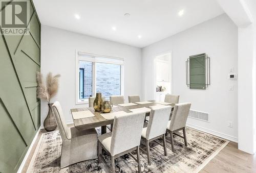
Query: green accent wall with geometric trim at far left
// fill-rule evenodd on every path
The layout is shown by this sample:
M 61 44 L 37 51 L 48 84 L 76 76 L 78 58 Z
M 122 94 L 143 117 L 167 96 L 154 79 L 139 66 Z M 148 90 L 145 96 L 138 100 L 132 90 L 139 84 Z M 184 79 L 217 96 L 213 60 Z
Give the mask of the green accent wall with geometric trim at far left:
M 0 35 L 0 172 L 7 173 L 18 170 L 40 127 L 40 22 L 27 2 L 29 34 Z

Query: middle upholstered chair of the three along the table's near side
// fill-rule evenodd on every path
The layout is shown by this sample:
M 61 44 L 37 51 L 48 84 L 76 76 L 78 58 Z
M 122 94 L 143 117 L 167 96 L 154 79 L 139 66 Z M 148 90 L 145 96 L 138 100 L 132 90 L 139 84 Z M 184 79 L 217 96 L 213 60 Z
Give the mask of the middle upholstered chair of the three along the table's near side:
M 151 109 L 150 119 L 148 120 L 147 127 L 142 130 L 142 138 L 146 139 L 146 149 L 147 151 L 147 162 L 151 164 L 150 159 L 150 142 L 156 141 L 156 139 L 163 138 L 163 149 L 164 155 L 167 156 L 166 145 L 165 145 L 165 133 L 166 126 L 168 124 L 170 110 L 172 107 L 166 106 L 159 109 Z M 158 141 L 156 141 L 159 143 Z M 162 145 L 161 143 L 159 143 Z M 142 150 L 142 149 L 141 149 Z M 143 150 L 142 150 L 143 151 Z

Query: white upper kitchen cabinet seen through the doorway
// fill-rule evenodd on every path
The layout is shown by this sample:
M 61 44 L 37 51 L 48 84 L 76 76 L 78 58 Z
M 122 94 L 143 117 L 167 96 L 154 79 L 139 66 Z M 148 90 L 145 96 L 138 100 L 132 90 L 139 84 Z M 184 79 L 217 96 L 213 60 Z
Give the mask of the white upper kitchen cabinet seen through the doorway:
M 168 82 L 169 81 L 169 63 L 168 61 L 158 60 L 156 62 L 157 68 L 157 81 Z

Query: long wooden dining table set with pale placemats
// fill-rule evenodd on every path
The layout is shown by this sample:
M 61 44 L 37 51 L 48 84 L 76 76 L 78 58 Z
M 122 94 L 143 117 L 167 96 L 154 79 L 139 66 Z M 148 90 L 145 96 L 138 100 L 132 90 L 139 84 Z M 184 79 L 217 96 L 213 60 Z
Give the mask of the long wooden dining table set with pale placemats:
M 141 103 L 141 104 L 140 104 Z M 131 106 L 121 106 L 122 104 L 117 104 L 114 105 L 111 112 L 119 112 L 123 111 L 126 113 L 131 113 L 131 109 L 138 109 L 138 108 L 148 108 L 145 111 L 145 116 L 149 116 L 151 112 L 151 107 L 156 107 L 156 106 L 171 106 L 172 110 L 174 109 L 175 104 L 173 103 L 165 103 L 165 102 L 155 102 L 154 100 L 152 101 L 145 101 L 145 102 L 136 102 L 133 103 Z M 125 104 L 124 104 L 125 105 Z M 79 111 L 91 111 L 94 116 L 92 117 L 86 117 L 86 118 L 74 118 L 74 113 L 77 113 Z M 86 130 L 86 129 L 92 129 L 92 128 L 97 128 L 101 127 L 101 134 L 106 133 L 106 126 L 107 125 L 113 125 L 114 118 L 112 119 L 106 119 L 102 115 L 103 113 L 101 111 L 95 111 L 93 107 L 89 108 L 74 108 L 71 109 L 71 114 L 74 122 L 74 126 L 77 130 Z

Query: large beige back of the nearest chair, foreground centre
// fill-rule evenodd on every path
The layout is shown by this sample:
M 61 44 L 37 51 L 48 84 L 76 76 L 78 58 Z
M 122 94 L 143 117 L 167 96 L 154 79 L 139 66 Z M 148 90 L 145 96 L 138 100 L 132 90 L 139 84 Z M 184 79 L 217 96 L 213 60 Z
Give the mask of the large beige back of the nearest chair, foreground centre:
M 143 112 L 115 116 L 110 146 L 112 156 L 140 145 L 144 119 Z

